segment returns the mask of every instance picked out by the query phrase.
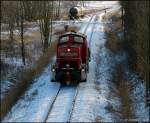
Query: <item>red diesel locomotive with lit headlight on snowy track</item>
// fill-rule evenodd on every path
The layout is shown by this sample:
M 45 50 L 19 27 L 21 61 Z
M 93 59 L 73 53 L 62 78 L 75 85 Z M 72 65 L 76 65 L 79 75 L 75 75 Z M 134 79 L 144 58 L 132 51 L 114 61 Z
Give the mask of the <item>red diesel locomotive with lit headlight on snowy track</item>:
M 68 32 L 59 37 L 52 82 L 83 82 L 89 70 L 90 50 L 86 35 Z

